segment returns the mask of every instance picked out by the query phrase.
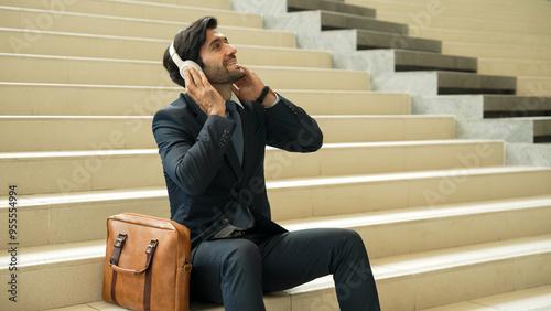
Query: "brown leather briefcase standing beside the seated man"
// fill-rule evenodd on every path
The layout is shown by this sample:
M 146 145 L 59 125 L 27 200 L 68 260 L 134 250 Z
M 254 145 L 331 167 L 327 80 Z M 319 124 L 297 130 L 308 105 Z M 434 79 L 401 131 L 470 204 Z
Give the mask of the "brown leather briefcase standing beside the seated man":
M 138 214 L 107 219 L 104 300 L 132 310 L 188 310 L 190 229 Z

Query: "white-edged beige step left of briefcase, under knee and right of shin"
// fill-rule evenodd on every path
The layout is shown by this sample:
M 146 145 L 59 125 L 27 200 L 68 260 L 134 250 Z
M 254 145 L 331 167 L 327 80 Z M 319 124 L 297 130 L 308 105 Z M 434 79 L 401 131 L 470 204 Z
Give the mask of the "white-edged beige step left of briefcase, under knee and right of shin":
M 21 283 L 29 288 L 21 292 L 22 308 L 36 310 L 101 300 L 104 240 L 25 250 L 21 250 L 20 267 L 23 269 L 18 274 Z M 371 266 L 381 307 L 413 310 L 549 285 L 551 271 L 547 262 L 550 259 L 551 235 L 541 235 L 399 255 L 371 260 Z M 2 272 L 7 270 L 7 267 L 1 269 Z M 455 277 L 460 274 L 461 283 Z M 527 280 L 526 276 L 533 278 Z M 86 282 L 80 281 L 83 286 L 75 287 L 78 279 Z M 283 294 L 292 297 L 290 303 L 293 305 L 322 302 L 336 307 L 333 286 L 327 276 L 283 291 Z M 457 286 L 465 290 L 457 290 Z M 60 299 L 46 299 L 60 290 L 65 293 Z M 325 299 L 320 301 L 321 298 Z

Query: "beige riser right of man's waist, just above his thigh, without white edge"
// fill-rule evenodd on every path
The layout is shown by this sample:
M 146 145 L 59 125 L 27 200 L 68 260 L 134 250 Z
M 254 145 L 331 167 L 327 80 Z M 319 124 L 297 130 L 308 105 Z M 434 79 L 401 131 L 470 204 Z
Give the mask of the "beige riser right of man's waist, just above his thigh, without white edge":
M 476 156 L 472 159 L 476 161 Z M 445 176 L 414 181 L 400 179 L 285 189 L 268 186 L 271 205 L 281 206 L 272 208 L 272 217 L 329 216 L 335 214 L 335 206 L 338 206 L 338 213 L 348 214 L 541 195 L 549 193 L 551 184 L 549 172 L 465 175 L 468 171 L 463 168 Z M 522 186 L 518 185 L 518 180 L 525 181 Z

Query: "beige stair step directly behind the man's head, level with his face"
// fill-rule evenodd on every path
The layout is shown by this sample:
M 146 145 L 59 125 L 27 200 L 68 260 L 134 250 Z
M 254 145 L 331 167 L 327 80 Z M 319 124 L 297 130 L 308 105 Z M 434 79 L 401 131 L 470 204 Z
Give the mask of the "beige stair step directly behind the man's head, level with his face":
M 41 44 L 29 44 L 22 52 L 57 56 L 162 61 L 162 52 L 171 43 L 169 40 L 159 39 L 0 29 L 0 40 L 6 42 L 14 37 L 23 42 L 29 35 L 40 37 Z M 241 44 L 234 46 L 242 64 L 331 68 L 328 52 Z M 11 46 L 3 45 L 0 52 L 13 51 Z

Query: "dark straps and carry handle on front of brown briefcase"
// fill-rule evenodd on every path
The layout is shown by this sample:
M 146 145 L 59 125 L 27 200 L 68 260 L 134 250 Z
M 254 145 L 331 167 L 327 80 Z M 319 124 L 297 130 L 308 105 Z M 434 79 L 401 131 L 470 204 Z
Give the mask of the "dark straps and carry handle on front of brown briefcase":
M 155 253 L 159 240 L 156 238 L 152 238 L 145 248 L 145 254 L 148 258 L 145 260 L 145 268 L 142 270 L 130 270 L 120 268 L 118 266 L 120 254 L 122 251 L 122 246 L 125 246 L 125 242 L 127 239 L 127 234 L 120 233 L 115 239 L 114 249 L 111 254 L 111 258 L 109 259 L 109 266 L 112 268 L 112 277 L 111 277 L 111 300 L 115 304 L 119 304 L 117 302 L 116 297 L 116 285 L 117 285 L 117 271 L 119 272 L 132 272 L 136 276 L 143 275 L 145 272 L 145 285 L 143 286 L 143 309 L 150 310 L 151 307 L 151 279 L 153 275 L 153 266 L 151 262 L 153 261 L 153 254 Z

